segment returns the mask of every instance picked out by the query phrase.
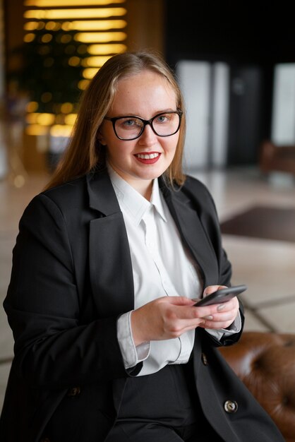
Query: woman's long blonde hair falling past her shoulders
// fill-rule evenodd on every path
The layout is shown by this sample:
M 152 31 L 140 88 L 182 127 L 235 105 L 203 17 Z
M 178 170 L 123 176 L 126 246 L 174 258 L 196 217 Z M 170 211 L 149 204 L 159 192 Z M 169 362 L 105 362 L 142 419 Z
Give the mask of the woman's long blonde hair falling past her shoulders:
M 78 116 L 70 141 L 46 189 L 64 184 L 97 168 L 105 167 L 106 149 L 105 146 L 100 145 L 97 136 L 102 121 L 112 106 L 119 81 L 145 70 L 153 71 L 166 78 L 174 89 L 177 109 L 184 111 L 183 97 L 174 72 L 162 56 L 150 51 L 125 52 L 112 56 L 97 71 L 81 96 Z M 164 172 L 167 184 L 181 185 L 185 181 L 182 169 L 185 129 L 186 117 L 183 113 L 176 153 L 171 165 Z

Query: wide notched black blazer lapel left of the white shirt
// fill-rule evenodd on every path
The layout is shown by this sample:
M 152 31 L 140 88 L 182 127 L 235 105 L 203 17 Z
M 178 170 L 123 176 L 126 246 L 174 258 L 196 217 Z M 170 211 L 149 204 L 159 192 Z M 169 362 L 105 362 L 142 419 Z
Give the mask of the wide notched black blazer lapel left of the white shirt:
M 90 282 L 100 316 L 134 308 L 131 255 L 124 218 L 107 171 L 88 176 L 90 208 Z

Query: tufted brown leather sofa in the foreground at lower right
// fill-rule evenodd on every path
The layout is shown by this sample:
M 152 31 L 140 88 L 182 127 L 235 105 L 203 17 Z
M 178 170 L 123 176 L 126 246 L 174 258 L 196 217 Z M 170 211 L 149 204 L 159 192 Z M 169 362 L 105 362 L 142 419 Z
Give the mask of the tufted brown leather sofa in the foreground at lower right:
M 295 442 L 295 335 L 244 332 L 237 344 L 220 351 L 286 442 Z

